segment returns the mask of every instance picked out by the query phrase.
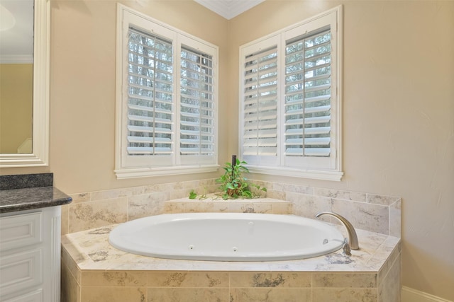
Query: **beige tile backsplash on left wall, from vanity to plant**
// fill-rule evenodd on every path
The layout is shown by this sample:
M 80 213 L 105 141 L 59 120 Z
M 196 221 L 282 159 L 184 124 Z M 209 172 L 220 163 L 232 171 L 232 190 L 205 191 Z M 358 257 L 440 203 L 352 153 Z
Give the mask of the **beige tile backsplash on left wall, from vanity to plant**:
M 164 213 L 164 202 L 216 190 L 214 179 L 70 194 L 62 207 L 62 235 Z

